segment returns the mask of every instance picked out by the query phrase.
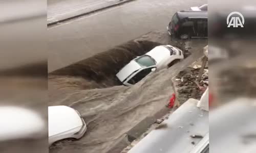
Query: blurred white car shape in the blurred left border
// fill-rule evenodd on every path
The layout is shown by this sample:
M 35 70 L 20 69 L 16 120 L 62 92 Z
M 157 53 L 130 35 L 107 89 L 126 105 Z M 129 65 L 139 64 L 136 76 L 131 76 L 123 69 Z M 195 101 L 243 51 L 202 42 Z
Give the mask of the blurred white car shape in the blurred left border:
M 44 137 L 47 127 L 41 114 L 26 107 L 1 106 L 0 141 Z

